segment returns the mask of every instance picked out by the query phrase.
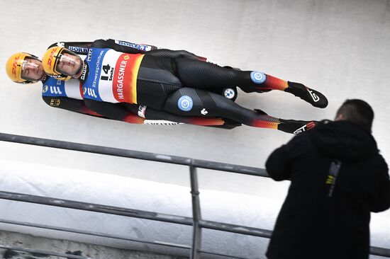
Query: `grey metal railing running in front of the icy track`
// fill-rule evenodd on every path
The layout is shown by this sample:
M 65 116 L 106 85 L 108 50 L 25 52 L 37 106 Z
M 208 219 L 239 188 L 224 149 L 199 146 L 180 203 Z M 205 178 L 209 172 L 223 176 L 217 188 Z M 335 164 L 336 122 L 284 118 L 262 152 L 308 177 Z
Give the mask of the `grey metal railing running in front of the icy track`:
M 143 210 L 136 210 L 136 209 L 128 209 L 128 208 L 122 208 L 122 207 L 112 207 L 108 205 L 99 205 L 99 204 L 92 204 L 88 202 L 79 202 L 79 201 L 73 201 L 73 200 L 62 200 L 57 199 L 55 197 L 41 197 L 36 195 L 27 195 L 22 193 L 15 193 L 15 192 L 4 192 L 0 191 L 0 199 L 5 200 L 14 200 L 19 202 L 30 202 L 40 205 L 50 205 L 55 207 L 65 207 L 70 209 L 80 209 L 80 210 L 86 210 L 90 212 L 100 212 L 100 213 L 106 213 L 106 214 L 115 214 L 115 215 L 121 215 L 126 217 L 135 217 L 140 219 L 149 219 L 149 220 L 155 220 L 155 221 L 164 221 L 169 222 L 172 224 L 183 224 L 187 226 L 193 227 L 193 238 L 192 238 L 192 244 L 191 246 L 186 246 L 182 244 L 176 244 L 176 243 L 166 243 L 162 241 L 147 241 L 143 239 L 135 239 L 135 238 L 127 238 L 125 236 L 116 236 L 116 235 L 108 235 L 108 234 L 101 234 L 97 232 L 91 232 L 91 231 L 80 231 L 75 229 L 67 229 L 67 228 L 61 228 L 58 226 L 47 226 L 42 224 L 31 224 L 26 222 L 20 222 L 20 221 L 9 221 L 9 220 L 2 220 L 0 219 L 0 223 L 5 224 L 16 224 L 21 226 L 33 226 L 36 228 L 41 229 L 52 229 L 56 231 L 66 231 L 69 233 L 77 233 L 77 234 L 86 234 L 91 236 L 101 236 L 106 238 L 116 238 L 121 239 L 125 241 L 135 241 L 135 242 L 141 242 L 141 243 L 150 243 L 154 245 L 160 245 L 160 246 L 169 246 L 173 248 L 184 248 L 187 250 L 190 250 L 189 257 L 191 259 L 199 259 L 201 258 L 201 253 L 208 254 L 208 255 L 221 255 L 226 258 L 240 258 L 245 259 L 236 255 L 225 255 L 222 253 L 213 253 L 210 251 L 203 251 L 201 249 L 201 231 L 202 229 L 214 229 L 219 231 L 227 231 L 230 233 L 236 233 L 236 234 L 245 234 L 250 236 L 259 236 L 263 238 L 270 238 L 272 231 L 266 230 L 266 229 L 257 229 L 252 228 L 248 226 L 239 226 L 234 224 L 225 224 L 217 221 L 206 221 L 201 219 L 201 206 L 199 202 L 199 186 L 198 186 L 198 180 L 197 180 L 197 173 L 196 168 L 206 168 L 206 169 L 212 169 L 216 171 L 225 171 L 230 173 L 241 173 L 245 175 L 256 175 L 256 176 L 262 176 L 262 177 L 269 177 L 267 175 L 267 172 L 262 168 L 253 168 L 248 166 L 238 166 L 228 163 L 218 163 L 213 161 L 205 161 L 205 160 L 199 160 L 199 159 L 189 159 L 182 156 L 168 156 L 163 154 L 154 154 L 154 153 L 147 153 L 147 152 L 141 152 L 141 151 L 133 151 L 133 150 L 127 150 L 127 149 L 116 149 L 106 146 L 94 146 L 89 144 L 80 144 L 80 143 L 73 143 L 73 142 L 62 142 L 52 139 L 40 139 L 35 137 L 25 137 L 25 136 L 19 136 L 19 135 L 13 135 L 13 134 L 4 134 L 0 133 L 0 141 L 4 142 L 15 142 L 20 144 L 31 144 L 35 146 L 46 146 L 46 147 L 52 147 L 57 149 L 68 149 L 72 151 L 83 151 L 88 153 L 94 153 L 94 154 L 104 154 L 109 156 L 121 156 L 121 157 L 127 157 L 131 159 L 141 159 L 141 160 L 147 160 L 147 161 L 157 161 L 162 163 L 173 163 L 178 165 L 184 165 L 189 166 L 189 173 L 190 173 L 190 183 L 191 183 L 191 197 L 192 197 L 192 212 L 193 217 L 182 217 L 177 215 L 171 215 L 171 214 L 160 214 L 158 212 L 147 212 Z M 0 247 L 1 248 L 1 247 Z M 22 249 L 22 248 L 19 248 Z M 15 250 L 18 250 L 15 248 Z M 43 253 L 42 251 L 38 251 L 39 253 Z M 50 253 L 47 253 L 50 255 Z M 370 254 L 372 255 L 379 255 L 383 257 L 390 258 L 390 249 L 386 248 L 378 248 L 371 246 L 370 247 Z

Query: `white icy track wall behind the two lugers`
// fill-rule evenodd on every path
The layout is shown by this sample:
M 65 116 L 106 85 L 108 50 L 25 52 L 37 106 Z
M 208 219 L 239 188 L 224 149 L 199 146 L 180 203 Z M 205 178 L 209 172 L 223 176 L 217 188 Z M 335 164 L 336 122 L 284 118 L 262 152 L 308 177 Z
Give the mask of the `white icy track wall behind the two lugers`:
M 41 56 L 52 42 L 113 38 L 186 49 L 220 64 L 298 81 L 330 102 L 321 110 L 288 93 L 240 92 L 238 103 L 275 117 L 332 119 L 345 99 L 362 98 L 374 108 L 373 134 L 390 161 L 388 0 L 0 0 L 0 31 L 0 132 L 257 167 L 264 167 L 269 153 L 291 139 L 284 132 L 247 126 L 130 125 L 87 117 L 50 108 L 40 98 L 39 84 L 18 86 L 6 77 L 4 64 L 13 52 Z M 189 182 L 183 166 L 35 146 L 0 143 L 0 157 L 179 185 Z M 268 197 L 279 205 L 288 187 L 249 176 L 200 174 L 203 188 Z M 383 215 L 390 219 L 389 212 Z

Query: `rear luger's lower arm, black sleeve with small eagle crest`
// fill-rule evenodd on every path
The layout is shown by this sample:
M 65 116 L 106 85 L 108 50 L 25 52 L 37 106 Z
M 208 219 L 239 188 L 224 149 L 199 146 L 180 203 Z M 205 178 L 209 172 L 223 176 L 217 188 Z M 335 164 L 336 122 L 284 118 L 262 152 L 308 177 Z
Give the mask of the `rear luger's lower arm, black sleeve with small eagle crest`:
M 64 96 L 42 96 L 45 103 L 54 108 L 60 108 L 64 110 L 70 110 L 75 113 L 83 113 L 96 117 L 104 117 L 93 110 L 89 109 L 83 100 L 77 100 L 73 98 L 67 98 Z

